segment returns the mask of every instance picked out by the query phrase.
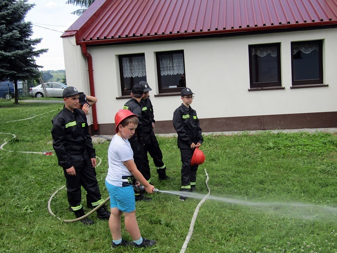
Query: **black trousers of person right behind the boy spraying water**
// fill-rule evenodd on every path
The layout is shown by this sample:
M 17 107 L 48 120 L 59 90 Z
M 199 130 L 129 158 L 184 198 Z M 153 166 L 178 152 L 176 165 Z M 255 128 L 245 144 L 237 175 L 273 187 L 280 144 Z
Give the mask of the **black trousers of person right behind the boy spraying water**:
M 133 160 L 136 163 L 137 169 L 142 173 L 143 177 L 150 182 L 151 181 L 151 172 L 149 161 L 144 154 L 144 144 L 143 141 L 138 139 L 136 136 L 132 136 L 129 139 L 133 151 Z

